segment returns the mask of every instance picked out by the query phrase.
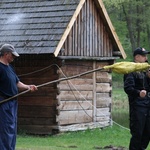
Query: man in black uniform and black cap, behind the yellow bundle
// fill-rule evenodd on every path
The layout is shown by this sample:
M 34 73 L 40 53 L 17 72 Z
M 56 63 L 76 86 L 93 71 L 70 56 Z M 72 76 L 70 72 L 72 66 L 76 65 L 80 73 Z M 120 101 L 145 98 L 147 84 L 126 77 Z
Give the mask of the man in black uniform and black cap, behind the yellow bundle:
M 136 63 L 147 62 L 149 52 L 137 48 Z M 133 72 L 124 75 L 124 91 L 129 98 L 130 145 L 129 150 L 145 150 L 150 140 L 150 78 L 149 72 Z

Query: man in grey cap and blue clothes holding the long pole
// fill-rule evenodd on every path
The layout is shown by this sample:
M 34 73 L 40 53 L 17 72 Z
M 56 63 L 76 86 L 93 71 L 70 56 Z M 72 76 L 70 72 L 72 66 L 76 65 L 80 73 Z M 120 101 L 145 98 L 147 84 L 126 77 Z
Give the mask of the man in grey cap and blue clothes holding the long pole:
M 10 44 L 0 48 L 0 101 L 18 94 L 18 90 L 37 90 L 35 85 L 22 83 L 10 63 L 19 54 Z M 0 104 L 0 150 L 15 150 L 17 134 L 16 98 Z

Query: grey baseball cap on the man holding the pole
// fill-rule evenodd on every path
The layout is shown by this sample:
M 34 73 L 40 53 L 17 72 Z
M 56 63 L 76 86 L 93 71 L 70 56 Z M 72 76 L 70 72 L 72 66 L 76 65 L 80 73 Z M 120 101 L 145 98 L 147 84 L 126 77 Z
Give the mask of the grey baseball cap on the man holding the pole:
M 16 52 L 15 48 L 11 44 L 4 44 L 0 48 L 0 54 L 4 54 L 5 52 L 11 52 L 14 56 L 18 57 L 19 54 Z

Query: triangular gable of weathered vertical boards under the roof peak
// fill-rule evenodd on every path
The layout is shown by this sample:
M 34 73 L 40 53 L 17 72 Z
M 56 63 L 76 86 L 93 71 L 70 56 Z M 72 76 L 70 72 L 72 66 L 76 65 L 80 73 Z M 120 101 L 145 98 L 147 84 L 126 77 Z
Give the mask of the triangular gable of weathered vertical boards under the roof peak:
M 62 50 L 59 55 L 72 56 L 72 58 L 78 56 L 96 59 L 112 58 L 117 56 L 116 53 L 119 53 L 122 48 L 119 48 L 121 44 L 115 42 L 114 37 L 117 39 L 111 33 L 97 3 L 94 0 L 88 0 L 82 6 L 64 44 L 61 43 L 63 47 L 61 45 Z

